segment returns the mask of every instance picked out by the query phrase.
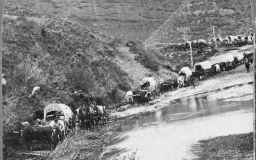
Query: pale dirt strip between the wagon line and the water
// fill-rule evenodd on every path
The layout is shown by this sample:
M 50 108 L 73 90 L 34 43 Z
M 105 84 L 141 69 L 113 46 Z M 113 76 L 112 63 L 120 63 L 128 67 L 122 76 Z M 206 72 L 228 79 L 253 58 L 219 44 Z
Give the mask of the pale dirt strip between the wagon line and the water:
M 164 95 L 161 95 L 159 99 L 152 101 L 149 106 L 136 106 L 136 108 L 129 108 L 129 105 L 127 105 L 126 107 L 128 109 L 126 111 L 111 113 L 111 115 L 116 117 L 143 115 L 168 106 L 170 100 L 249 82 L 253 82 L 253 72 L 246 73 L 246 68 L 244 65 L 241 65 L 231 72 L 224 72 L 205 81 L 200 81 L 196 84 L 195 89 L 192 87 L 178 88 L 175 91 L 164 93 Z

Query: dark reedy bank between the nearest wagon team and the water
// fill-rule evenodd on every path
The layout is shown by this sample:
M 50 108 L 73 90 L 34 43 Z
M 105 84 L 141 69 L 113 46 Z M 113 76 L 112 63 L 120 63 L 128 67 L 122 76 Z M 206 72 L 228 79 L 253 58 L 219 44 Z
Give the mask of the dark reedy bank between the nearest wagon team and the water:
M 109 136 L 117 132 L 128 131 L 139 115 L 116 118 L 105 126 L 98 126 L 95 132 L 82 131 L 70 134 L 47 159 L 99 159 Z

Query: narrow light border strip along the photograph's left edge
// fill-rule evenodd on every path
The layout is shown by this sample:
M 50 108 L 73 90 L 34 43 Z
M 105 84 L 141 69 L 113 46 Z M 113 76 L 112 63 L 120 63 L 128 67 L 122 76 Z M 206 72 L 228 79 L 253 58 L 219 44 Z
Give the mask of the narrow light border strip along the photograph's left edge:
M 2 77 L 2 31 L 5 0 L 0 0 L 0 74 Z M 0 78 L 1 79 L 1 78 Z M 0 80 L 0 156 L 3 157 L 2 79 Z

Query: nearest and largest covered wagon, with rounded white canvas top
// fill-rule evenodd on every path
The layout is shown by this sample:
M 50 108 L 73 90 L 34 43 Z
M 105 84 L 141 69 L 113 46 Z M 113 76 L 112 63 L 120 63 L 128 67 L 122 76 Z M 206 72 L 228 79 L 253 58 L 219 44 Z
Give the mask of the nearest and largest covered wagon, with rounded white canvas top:
M 45 121 L 49 122 L 49 125 L 53 127 L 54 120 L 57 119 L 58 122 L 63 125 L 61 132 L 63 132 L 64 136 L 67 130 L 67 122 L 69 121 L 69 118 L 72 118 L 72 116 L 72 110 L 65 104 L 52 103 L 44 108 Z

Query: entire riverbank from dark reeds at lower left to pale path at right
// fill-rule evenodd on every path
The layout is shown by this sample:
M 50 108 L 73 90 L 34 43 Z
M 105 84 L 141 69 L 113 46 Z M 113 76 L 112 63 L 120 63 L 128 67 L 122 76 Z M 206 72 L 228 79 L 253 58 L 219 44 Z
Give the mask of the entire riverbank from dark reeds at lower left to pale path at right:
M 148 106 L 135 106 L 134 108 L 127 106 L 126 111 L 111 113 L 111 122 L 105 126 L 97 127 L 95 132 L 83 131 L 80 134 L 68 136 L 50 154 L 48 159 L 99 159 L 111 135 L 132 129 L 140 116 L 155 113 L 158 109 L 168 106 L 171 100 L 252 81 L 253 72 L 246 73 L 244 65 L 241 65 L 231 72 L 200 81 L 196 84 L 195 89 L 191 87 L 179 88 L 173 92 L 165 93 Z

